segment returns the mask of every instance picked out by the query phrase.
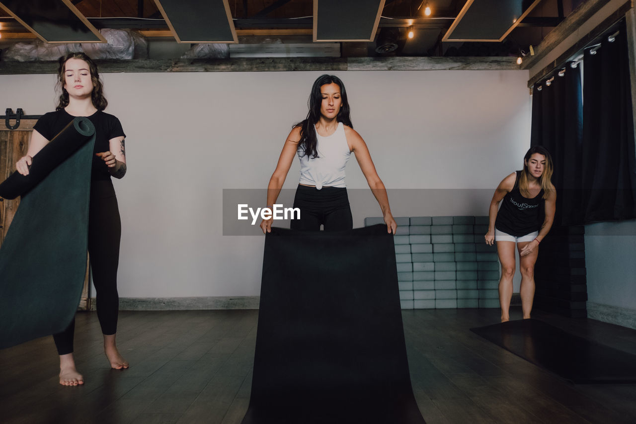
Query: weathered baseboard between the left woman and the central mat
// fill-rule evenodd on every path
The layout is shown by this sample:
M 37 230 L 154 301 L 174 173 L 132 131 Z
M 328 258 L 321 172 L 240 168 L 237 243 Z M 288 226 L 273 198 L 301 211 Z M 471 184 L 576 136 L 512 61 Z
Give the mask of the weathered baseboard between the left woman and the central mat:
M 258 309 L 259 296 L 120 297 L 120 311 L 188 311 L 193 309 Z M 90 302 L 95 310 L 95 298 Z

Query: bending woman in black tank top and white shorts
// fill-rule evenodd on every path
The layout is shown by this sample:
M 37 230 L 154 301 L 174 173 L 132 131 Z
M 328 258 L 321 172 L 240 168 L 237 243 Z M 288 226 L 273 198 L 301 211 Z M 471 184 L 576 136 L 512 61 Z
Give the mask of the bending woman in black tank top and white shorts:
M 523 319 L 530 318 L 534 300 L 534 264 L 539 254 L 539 243 L 550 232 L 555 216 L 556 191 L 550 181 L 553 169 L 548 150 L 542 146 L 530 148 L 523 157 L 523 169 L 504 178 L 490 201 L 490 221 L 485 239 L 491 246 L 497 242 L 501 262 L 501 322 L 510 320 L 516 267 L 515 244 L 520 257 Z M 541 208 L 543 222 L 540 220 Z

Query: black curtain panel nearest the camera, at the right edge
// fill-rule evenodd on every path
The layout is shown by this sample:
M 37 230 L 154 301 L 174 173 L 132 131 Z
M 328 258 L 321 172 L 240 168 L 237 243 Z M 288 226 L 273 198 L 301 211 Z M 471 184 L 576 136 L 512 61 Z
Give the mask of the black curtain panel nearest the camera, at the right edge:
M 636 217 L 633 112 L 625 23 L 584 55 L 584 222 Z

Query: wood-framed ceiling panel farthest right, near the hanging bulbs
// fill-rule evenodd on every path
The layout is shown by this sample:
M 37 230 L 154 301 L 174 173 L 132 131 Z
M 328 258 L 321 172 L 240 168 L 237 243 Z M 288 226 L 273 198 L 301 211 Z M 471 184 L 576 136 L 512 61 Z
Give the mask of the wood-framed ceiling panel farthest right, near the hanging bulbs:
M 442 41 L 503 41 L 541 0 L 468 0 Z

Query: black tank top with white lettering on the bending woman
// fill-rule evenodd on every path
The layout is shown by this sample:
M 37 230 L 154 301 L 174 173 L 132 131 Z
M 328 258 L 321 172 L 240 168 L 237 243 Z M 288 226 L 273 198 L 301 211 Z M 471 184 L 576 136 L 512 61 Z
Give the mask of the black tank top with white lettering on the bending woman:
M 543 188 L 535 197 L 523 197 L 519 190 L 519 176 L 516 171 L 515 187 L 504 196 L 501 208 L 497 213 L 495 228 L 511 236 L 521 237 L 541 228 L 539 216 L 543 205 Z

